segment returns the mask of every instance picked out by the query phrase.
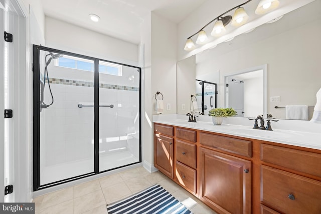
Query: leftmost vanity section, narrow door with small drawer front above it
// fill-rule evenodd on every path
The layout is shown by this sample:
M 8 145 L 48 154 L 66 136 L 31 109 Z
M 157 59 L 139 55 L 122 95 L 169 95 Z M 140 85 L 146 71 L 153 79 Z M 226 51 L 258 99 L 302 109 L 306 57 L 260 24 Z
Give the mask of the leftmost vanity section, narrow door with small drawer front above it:
M 174 178 L 174 127 L 154 125 L 154 165 L 170 178 Z

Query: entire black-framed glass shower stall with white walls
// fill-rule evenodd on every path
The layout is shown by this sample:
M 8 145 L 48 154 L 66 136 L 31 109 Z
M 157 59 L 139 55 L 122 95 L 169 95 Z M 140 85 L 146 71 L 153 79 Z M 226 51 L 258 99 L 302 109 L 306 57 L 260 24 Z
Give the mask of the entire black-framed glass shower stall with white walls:
M 34 46 L 34 190 L 141 162 L 139 67 Z

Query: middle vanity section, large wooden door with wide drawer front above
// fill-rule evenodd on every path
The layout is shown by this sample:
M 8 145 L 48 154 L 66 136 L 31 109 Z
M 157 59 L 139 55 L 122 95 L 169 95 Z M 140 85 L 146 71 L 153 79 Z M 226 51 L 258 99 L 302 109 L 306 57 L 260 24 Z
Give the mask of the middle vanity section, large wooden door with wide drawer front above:
M 251 213 L 251 161 L 220 152 L 251 156 L 251 143 L 200 133 L 199 197 L 220 213 Z

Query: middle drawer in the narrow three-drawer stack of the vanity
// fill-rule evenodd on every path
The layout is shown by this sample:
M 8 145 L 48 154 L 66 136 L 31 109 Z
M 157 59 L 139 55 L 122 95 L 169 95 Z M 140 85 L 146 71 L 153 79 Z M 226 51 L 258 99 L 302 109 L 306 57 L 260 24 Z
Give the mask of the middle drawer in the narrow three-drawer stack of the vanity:
M 176 140 L 176 160 L 196 168 L 196 144 Z

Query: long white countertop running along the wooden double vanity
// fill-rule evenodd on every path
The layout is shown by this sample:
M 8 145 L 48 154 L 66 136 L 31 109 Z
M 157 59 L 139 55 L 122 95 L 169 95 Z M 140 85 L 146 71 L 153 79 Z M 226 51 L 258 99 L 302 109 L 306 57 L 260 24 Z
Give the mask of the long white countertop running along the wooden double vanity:
M 209 116 L 198 120 L 188 122 L 185 115 L 154 115 L 152 122 L 321 150 L 321 124 L 310 121 L 271 122 L 273 131 L 267 131 L 252 129 L 254 122 L 247 118 L 224 118 L 221 125 L 214 125 Z

